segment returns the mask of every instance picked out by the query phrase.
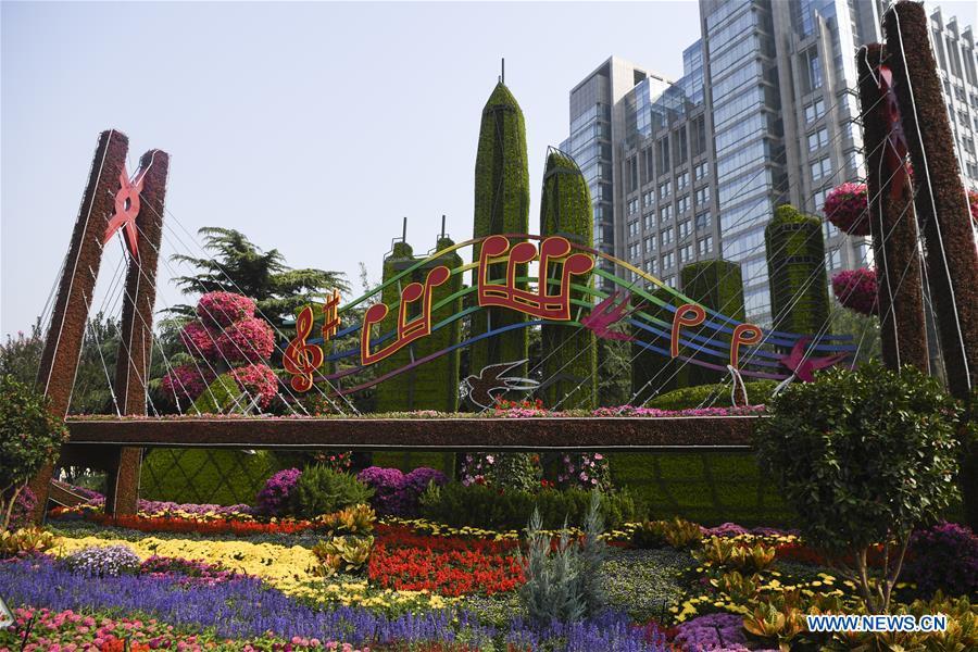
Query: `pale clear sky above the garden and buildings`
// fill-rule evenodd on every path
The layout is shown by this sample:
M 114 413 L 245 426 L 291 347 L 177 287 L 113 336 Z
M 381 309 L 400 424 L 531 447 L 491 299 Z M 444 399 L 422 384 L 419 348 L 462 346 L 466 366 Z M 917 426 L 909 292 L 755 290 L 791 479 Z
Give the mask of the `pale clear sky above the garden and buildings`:
M 532 206 L 569 89 L 611 54 L 678 77 L 698 5 L 647 3 L 0 3 L 0 333 L 40 314 L 98 133 L 171 153 L 164 252 L 237 228 L 292 266 L 376 279 L 409 217 L 472 233 L 479 114 L 506 58 L 526 115 Z M 130 166 L 131 172 L 131 166 Z M 189 250 L 189 251 L 188 251 Z M 106 248 L 95 305 L 121 246 Z M 161 263 L 158 309 L 180 300 Z

